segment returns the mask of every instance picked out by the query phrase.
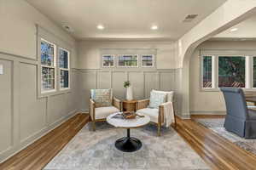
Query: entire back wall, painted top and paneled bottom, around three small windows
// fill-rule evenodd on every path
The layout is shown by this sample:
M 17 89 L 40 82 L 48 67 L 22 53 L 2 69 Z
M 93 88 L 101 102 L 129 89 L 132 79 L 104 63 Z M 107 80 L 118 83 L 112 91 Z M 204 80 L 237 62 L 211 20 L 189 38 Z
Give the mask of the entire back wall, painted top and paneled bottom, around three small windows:
M 91 88 L 113 88 L 113 95 L 125 99 L 123 82 L 131 81 L 134 99 L 146 99 L 151 89 L 176 91 L 178 86 L 173 42 L 78 42 L 79 85 L 81 92 L 80 108 L 89 110 Z M 102 69 L 102 49 L 127 49 L 132 51 L 156 49 L 155 68 L 112 68 Z M 178 95 L 178 94 L 177 94 Z M 177 96 L 176 95 L 176 96 Z M 178 107 L 177 107 L 178 108 Z

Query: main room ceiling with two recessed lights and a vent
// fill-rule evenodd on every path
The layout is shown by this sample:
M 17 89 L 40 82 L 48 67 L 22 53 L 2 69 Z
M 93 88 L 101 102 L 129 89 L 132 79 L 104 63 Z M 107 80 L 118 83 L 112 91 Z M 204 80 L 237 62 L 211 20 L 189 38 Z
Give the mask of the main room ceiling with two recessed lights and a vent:
M 26 0 L 59 26 L 71 26 L 73 37 L 159 38 L 175 40 L 226 0 Z M 183 23 L 187 14 L 199 14 Z M 100 31 L 98 24 L 105 26 Z M 152 31 L 156 24 L 159 30 Z

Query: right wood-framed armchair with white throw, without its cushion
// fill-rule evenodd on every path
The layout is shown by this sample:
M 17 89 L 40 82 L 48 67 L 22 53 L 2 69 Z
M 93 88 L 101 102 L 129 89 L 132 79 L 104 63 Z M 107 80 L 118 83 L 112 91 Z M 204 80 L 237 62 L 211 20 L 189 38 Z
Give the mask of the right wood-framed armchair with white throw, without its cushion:
M 155 91 L 155 90 L 153 90 Z M 166 94 L 166 100 L 160 104 L 158 108 L 150 108 L 150 99 L 142 99 L 137 101 L 137 114 L 148 115 L 150 122 L 158 127 L 157 134 L 160 136 L 161 127 L 166 125 L 169 127 L 172 123 L 174 127 L 177 126 L 176 116 L 173 105 L 173 92 L 156 91 Z M 151 94 L 150 94 L 151 95 Z

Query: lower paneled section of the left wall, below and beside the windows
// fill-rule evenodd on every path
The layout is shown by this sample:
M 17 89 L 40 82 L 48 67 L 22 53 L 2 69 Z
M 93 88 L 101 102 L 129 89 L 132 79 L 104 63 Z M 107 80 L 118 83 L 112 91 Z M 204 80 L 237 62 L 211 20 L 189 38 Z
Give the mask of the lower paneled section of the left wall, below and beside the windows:
M 79 108 L 79 72 L 73 69 L 72 90 L 38 97 L 38 61 L 0 53 L 0 162 L 22 150 Z

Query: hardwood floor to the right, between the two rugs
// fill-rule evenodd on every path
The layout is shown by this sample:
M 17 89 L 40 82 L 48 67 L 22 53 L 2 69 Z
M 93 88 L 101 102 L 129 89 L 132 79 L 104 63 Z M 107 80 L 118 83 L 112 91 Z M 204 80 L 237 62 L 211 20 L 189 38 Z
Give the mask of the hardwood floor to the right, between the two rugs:
M 192 116 L 191 120 L 177 118 L 177 133 L 208 163 L 212 169 L 256 169 L 256 156 L 203 127 L 193 118 L 223 116 Z

